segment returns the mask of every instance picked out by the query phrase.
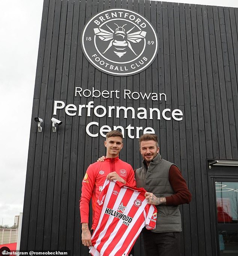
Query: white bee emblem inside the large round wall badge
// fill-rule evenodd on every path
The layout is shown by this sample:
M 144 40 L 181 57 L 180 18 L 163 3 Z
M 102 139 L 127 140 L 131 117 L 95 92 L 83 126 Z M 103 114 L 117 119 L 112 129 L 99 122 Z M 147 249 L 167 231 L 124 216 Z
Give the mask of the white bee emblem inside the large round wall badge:
M 131 46 L 131 43 L 139 43 L 142 39 L 145 38 L 146 32 L 139 30 L 137 32 L 133 32 L 130 34 L 130 32 L 135 28 L 133 26 L 130 30 L 126 32 L 124 29 L 124 26 L 127 24 L 124 24 L 123 26 L 118 26 L 116 23 L 114 23 L 117 28 L 116 30 L 112 30 L 108 25 L 108 29 L 111 31 L 107 31 L 101 28 L 95 28 L 94 33 L 96 36 L 98 36 L 102 41 L 109 41 L 107 49 L 103 52 L 107 52 L 108 49 L 110 49 L 112 46 L 114 47 L 113 52 L 121 58 L 123 55 L 127 53 L 127 47 L 134 53 L 134 55 L 138 56 L 136 52 L 133 50 L 133 47 Z

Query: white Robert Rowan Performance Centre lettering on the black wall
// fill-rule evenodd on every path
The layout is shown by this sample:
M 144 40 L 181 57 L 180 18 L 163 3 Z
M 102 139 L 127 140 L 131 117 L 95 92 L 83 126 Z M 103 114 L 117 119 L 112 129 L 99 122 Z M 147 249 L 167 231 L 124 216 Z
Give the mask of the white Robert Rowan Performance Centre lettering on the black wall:
M 105 15 L 107 17 L 107 14 Z M 131 17 L 133 18 L 133 17 Z M 100 17 L 99 17 L 100 19 Z M 98 21 L 99 22 L 99 21 Z M 139 20 L 138 20 L 139 22 Z M 143 23 L 141 24 L 143 26 Z M 95 57 L 96 54 L 95 54 Z M 146 58 L 143 58 L 146 61 Z M 165 93 L 155 93 L 155 92 L 137 92 L 131 91 L 129 89 L 124 89 L 123 91 L 119 90 L 97 90 L 94 87 L 89 89 L 83 89 L 81 87 L 75 87 L 75 97 L 84 97 L 84 98 L 104 98 L 104 99 L 120 99 L 123 98 L 126 101 L 130 100 L 140 100 L 141 101 L 167 101 L 167 96 Z M 145 105 L 144 105 L 145 106 Z M 89 101 L 87 104 L 68 104 L 64 101 L 54 101 L 53 106 L 53 115 L 59 114 L 60 110 L 64 110 L 68 116 L 96 116 L 96 117 L 108 117 L 112 118 L 113 116 L 119 119 L 127 118 L 127 119 L 151 119 L 151 120 L 183 120 L 183 113 L 179 109 L 165 108 L 145 108 L 145 107 L 125 107 L 125 106 L 103 106 L 103 105 L 95 105 L 93 101 Z M 90 122 L 86 125 L 86 133 L 90 137 L 98 137 L 99 134 L 102 137 L 106 137 L 106 134 L 111 130 L 120 130 L 125 136 L 130 139 L 139 139 L 140 133 L 150 133 L 155 134 L 155 131 L 151 127 L 142 126 L 132 126 L 128 124 L 127 127 L 123 127 L 121 125 L 114 125 L 110 127 L 108 125 L 99 125 L 98 122 Z

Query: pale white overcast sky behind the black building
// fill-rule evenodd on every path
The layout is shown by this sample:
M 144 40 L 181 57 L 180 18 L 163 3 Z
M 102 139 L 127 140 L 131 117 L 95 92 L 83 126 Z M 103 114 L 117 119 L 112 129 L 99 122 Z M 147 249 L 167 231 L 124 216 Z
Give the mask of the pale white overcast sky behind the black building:
M 166 1 L 238 7 L 237 0 Z M 0 225 L 23 212 L 43 0 L 1 1 Z

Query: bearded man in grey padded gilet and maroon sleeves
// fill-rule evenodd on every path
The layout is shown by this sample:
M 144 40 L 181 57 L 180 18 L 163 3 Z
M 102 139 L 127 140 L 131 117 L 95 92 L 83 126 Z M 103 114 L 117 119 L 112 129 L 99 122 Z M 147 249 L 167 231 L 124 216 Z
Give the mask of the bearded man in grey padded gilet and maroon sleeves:
M 155 230 L 143 230 L 146 256 L 179 256 L 181 215 L 179 204 L 189 203 L 191 193 L 179 168 L 161 158 L 154 134 L 140 137 L 142 167 L 135 172 L 136 186 L 143 187 L 149 204 L 157 207 Z

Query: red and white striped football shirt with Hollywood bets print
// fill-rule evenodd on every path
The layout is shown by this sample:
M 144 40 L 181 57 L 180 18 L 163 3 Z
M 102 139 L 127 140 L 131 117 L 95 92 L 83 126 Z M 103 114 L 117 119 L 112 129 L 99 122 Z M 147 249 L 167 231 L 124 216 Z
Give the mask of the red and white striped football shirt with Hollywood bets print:
M 93 256 L 125 256 L 143 227 L 155 229 L 157 209 L 147 203 L 146 190 L 106 180 L 98 198 L 101 215 L 96 219 L 90 253 Z

